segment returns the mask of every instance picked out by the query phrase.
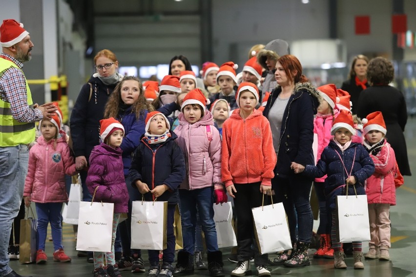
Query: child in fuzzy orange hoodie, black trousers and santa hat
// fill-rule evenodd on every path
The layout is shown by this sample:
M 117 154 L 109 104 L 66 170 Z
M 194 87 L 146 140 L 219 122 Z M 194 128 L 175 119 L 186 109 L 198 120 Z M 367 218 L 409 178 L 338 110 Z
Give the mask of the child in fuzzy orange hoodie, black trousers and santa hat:
M 250 269 L 254 229 L 251 208 L 260 207 L 264 194 L 271 192 L 276 153 L 270 123 L 254 109 L 259 102 L 257 86 L 242 82 L 235 96 L 239 109 L 223 125 L 221 175 L 229 196 L 234 198 L 237 216 L 238 265 L 231 276 L 244 276 Z M 270 276 L 268 255 L 254 247 L 258 276 Z

